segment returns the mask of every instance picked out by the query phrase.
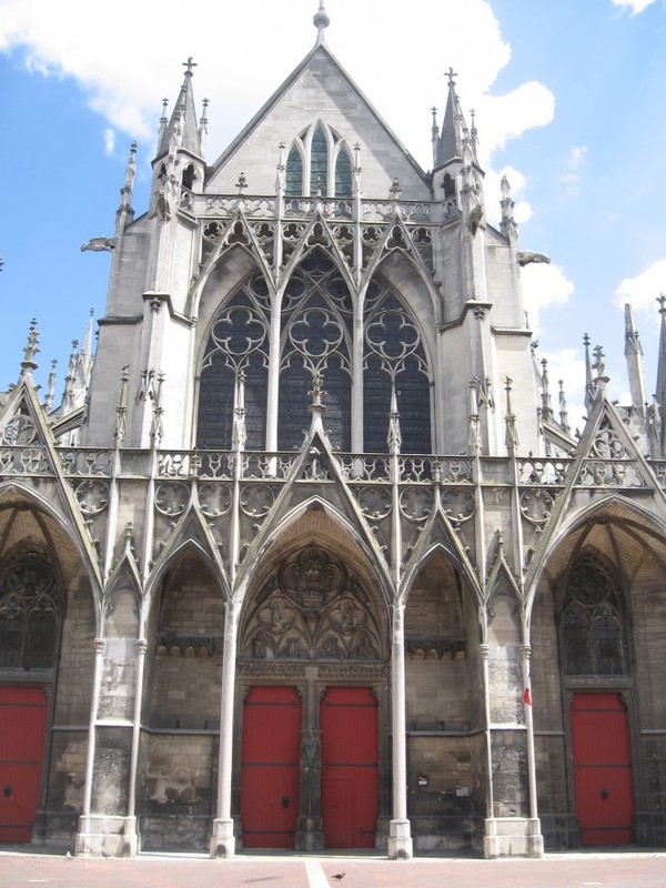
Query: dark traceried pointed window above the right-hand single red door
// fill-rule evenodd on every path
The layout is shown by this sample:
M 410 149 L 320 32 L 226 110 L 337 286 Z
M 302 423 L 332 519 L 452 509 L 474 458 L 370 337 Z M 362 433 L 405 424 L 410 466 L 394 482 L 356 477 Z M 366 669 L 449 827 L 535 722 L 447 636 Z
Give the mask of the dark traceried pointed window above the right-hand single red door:
M 564 672 L 576 676 L 625 675 L 625 633 L 615 578 L 591 557 L 572 571 L 561 623 Z

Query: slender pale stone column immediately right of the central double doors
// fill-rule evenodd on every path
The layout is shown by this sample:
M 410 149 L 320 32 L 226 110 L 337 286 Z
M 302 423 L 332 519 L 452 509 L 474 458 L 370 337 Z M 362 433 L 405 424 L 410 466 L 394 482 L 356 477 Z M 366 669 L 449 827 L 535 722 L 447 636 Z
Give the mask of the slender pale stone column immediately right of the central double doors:
M 391 696 L 393 734 L 393 819 L 389 824 L 389 859 L 413 857 L 411 824 L 407 820 L 407 745 L 405 715 L 405 645 L 403 604 L 393 606 Z

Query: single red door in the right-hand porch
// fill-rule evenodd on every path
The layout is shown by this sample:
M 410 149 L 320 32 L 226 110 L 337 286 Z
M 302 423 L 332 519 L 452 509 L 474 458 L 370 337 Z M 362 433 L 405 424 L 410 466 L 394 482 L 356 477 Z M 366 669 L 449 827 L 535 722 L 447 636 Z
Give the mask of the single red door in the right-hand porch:
M 629 845 L 634 841 L 634 781 L 620 696 L 575 694 L 569 714 L 581 842 Z

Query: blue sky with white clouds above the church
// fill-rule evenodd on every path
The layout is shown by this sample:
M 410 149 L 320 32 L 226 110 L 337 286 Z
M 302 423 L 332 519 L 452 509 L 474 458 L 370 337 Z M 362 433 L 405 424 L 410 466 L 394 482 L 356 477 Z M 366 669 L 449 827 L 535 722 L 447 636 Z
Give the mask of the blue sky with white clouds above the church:
M 171 110 L 181 62 L 194 57 L 195 97 L 211 101 L 212 162 L 310 50 L 316 7 L 190 0 L 176 17 L 155 0 L 117 0 L 103 14 L 79 0 L 0 0 L 0 389 L 16 381 L 37 317 L 37 379 L 46 385 L 57 359 L 61 394 L 71 340 L 105 300 L 109 256 L 80 246 L 113 231 L 132 139 L 133 205 L 145 209 L 161 100 Z M 625 397 L 627 301 L 649 396 L 656 297 L 666 292 L 666 0 L 326 8 L 330 48 L 426 169 L 430 108 L 443 109 L 443 72 L 458 73 L 463 107 L 476 109 L 488 214 L 507 171 L 521 248 L 552 259 L 526 270 L 524 289 L 552 389 L 565 380 L 572 424 L 582 414 L 585 332 L 604 346 L 613 396 Z

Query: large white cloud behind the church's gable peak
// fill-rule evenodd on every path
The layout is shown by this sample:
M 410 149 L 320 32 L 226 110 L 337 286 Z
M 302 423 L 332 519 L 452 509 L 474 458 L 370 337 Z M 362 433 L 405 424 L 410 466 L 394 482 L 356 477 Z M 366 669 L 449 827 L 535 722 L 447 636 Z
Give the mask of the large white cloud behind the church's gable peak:
M 214 7 L 190 0 L 183 19 L 165 16 L 157 0 L 117 0 L 110 16 L 80 0 L 0 0 L 0 50 L 18 52 L 32 72 L 72 78 L 110 128 L 147 151 L 154 145 L 162 97 L 176 98 L 181 62 L 191 54 L 198 100 L 211 101 L 212 161 L 313 46 L 315 10 L 314 0 Z M 487 0 L 384 0 L 381 10 L 329 0 L 327 11 L 327 44 L 425 168 L 432 164 L 428 108 L 440 105 L 441 117 L 450 65 L 464 108 L 478 111 L 483 163 L 507 140 L 553 119 L 553 94 L 541 83 L 490 94 L 511 48 Z M 206 28 L 184 33 L 184 22 L 204 18 Z

